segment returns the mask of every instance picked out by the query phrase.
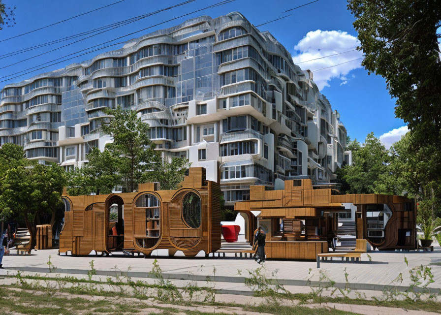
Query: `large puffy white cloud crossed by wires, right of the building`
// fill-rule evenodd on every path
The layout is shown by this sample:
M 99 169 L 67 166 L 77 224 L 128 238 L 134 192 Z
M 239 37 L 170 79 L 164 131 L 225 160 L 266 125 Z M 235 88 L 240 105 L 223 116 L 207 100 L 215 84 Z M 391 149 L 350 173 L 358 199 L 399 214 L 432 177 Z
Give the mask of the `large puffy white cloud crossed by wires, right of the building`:
M 300 63 L 299 66 L 302 69 L 310 69 L 312 71 L 343 63 L 314 72 L 314 82 L 319 90 L 326 86 L 329 87 L 328 81 L 332 78 L 339 78 L 342 81 L 340 85 L 344 85 L 348 81 L 347 74 L 353 69 L 361 68 L 361 59 L 349 61 L 361 58 L 362 52 L 355 50 L 310 62 L 301 62 L 352 50 L 359 44 L 360 42 L 357 37 L 347 32 L 311 31 L 294 46 L 297 55 L 292 57 L 292 60 L 294 63 Z

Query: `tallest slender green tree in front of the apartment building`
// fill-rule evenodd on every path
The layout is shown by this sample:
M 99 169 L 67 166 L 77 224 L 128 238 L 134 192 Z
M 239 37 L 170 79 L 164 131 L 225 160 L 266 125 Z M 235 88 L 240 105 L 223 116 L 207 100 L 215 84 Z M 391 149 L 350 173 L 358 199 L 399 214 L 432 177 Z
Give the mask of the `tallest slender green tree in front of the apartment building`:
M 102 119 L 101 129 L 114 139 L 107 148 L 118 156 L 123 186 L 127 191 L 133 191 L 141 182 L 142 175 L 152 169 L 152 161 L 157 154 L 155 144 L 148 136 L 149 125 L 142 122 L 133 110 L 106 108 L 105 113 L 112 118 Z

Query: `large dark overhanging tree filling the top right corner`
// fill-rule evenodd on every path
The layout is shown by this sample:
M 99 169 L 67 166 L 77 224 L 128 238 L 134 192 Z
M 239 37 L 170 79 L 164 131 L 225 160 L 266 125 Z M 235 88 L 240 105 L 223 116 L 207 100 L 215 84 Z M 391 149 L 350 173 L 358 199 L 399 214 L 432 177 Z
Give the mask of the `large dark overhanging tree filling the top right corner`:
M 441 182 L 439 0 L 348 0 L 365 54 L 362 65 L 386 79 L 397 117 L 409 126 L 410 152 Z M 439 185 L 439 184 L 437 184 Z

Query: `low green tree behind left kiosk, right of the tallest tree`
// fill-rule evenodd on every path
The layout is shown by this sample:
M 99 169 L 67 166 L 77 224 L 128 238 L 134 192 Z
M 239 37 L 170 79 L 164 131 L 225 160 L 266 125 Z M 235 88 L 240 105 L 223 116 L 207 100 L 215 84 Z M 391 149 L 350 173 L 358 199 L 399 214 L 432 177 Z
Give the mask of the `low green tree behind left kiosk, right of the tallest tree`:
M 159 153 L 154 157 L 152 170 L 141 176 L 142 182 L 158 182 L 160 189 L 178 189 L 179 183 L 184 180 L 189 161 L 185 158 L 174 157 L 171 163 L 162 160 Z

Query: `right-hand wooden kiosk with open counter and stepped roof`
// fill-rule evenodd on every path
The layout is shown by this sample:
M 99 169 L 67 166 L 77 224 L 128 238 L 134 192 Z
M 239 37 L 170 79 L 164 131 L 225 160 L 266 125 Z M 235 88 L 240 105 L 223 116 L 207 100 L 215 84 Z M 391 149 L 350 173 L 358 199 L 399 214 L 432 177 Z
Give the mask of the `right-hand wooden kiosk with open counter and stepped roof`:
M 339 194 L 336 189 L 316 188 L 310 179 L 284 181 L 284 189 L 250 187 L 250 200 L 236 202 L 235 211 L 249 222 L 252 242 L 256 220 L 267 232 L 268 258 L 316 259 L 334 248 L 337 213 L 353 207 L 356 239 L 366 239 L 380 250 L 416 248 L 416 212 L 406 197 L 381 194 Z

